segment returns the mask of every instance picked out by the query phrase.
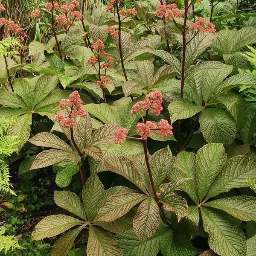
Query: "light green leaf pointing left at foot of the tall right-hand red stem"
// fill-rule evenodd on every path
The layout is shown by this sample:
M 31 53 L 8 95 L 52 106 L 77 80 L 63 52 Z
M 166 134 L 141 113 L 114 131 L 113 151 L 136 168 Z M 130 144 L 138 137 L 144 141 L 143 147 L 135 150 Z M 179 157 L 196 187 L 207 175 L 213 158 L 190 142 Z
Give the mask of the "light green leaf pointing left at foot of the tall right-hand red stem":
M 168 106 L 171 122 L 174 123 L 178 119 L 186 119 L 194 116 L 203 110 L 202 106 L 196 106 L 186 99 L 177 99 Z

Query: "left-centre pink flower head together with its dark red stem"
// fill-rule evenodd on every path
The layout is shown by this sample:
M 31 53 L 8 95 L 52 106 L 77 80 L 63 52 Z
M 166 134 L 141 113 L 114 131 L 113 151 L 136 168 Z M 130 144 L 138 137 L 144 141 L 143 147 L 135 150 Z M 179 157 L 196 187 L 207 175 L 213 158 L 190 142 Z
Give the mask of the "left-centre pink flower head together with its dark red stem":
M 70 99 L 62 99 L 59 103 L 61 112 L 57 113 L 55 116 L 55 121 L 63 128 L 70 129 L 70 138 L 76 148 L 76 151 L 81 158 L 81 166 L 79 165 L 79 172 L 81 177 L 82 185 L 84 186 L 84 174 L 85 174 L 85 163 L 84 163 L 84 153 L 80 151 L 76 141 L 74 139 L 73 127 L 76 125 L 76 118 L 80 116 L 84 118 L 87 115 L 87 112 L 82 107 L 82 102 L 79 96 L 78 91 L 74 91 L 70 94 Z

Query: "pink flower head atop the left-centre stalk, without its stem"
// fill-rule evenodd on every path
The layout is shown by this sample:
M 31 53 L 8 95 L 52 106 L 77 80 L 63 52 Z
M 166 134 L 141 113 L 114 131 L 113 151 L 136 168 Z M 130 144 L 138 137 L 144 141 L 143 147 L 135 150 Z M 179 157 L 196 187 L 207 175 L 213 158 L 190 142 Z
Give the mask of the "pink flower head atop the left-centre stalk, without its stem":
M 66 110 L 67 114 L 60 112 L 55 116 L 55 121 L 64 128 L 72 128 L 76 125 L 76 117 L 84 118 L 87 114 L 82 107 L 82 102 L 78 91 L 70 94 L 70 99 L 62 99 L 59 103 L 61 110 Z

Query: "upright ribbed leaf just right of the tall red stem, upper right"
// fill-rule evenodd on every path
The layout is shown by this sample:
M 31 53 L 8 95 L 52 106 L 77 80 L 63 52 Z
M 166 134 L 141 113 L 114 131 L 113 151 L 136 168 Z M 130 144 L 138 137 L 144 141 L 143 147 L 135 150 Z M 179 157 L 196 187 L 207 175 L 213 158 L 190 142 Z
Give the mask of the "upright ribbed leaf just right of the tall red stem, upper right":
M 189 33 L 186 41 L 189 41 L 194 35 Z M 198 33 L 194 39 L 186 46 L 185 53 L 185 70 L 188 70 L 190 65 L 193 65 L 195 60 L 201 55 L 214 41 L 215 35 L 208 32 Z M 181 55 L 183 54 L 183 50 Z

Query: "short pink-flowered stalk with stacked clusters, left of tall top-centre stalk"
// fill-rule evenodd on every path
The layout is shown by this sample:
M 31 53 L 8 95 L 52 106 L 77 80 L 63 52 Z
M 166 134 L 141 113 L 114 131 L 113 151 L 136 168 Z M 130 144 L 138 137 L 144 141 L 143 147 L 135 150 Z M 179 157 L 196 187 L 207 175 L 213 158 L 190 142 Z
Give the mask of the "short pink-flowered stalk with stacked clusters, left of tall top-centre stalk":
M 106 72 L 108 68 L 113 67 L 113 58 L 111 56 L 108 56 L 106 57 L 107 61 L 105 61 L 103 64 L 101 63 L 101 57 L 105 55 L 105 45 L 100 39 L 92 44 L 91 47 L 94 51 L 97 52 L 98 58 L 96 58 L 95 56 L 90 56 L 86 64 L 92 64 L 97 71 L 99 77 L 99 80 L 97 81 L 97 86 L 102 89 L 103 101 L 106 103 L 105 85 L 110 84 L 110 79 L 106 77 Z M 96 63 L 98 63 L 98 68 L 96 68 Z M 104 70 L 104 76 L 102 76 L 101 70 Z

